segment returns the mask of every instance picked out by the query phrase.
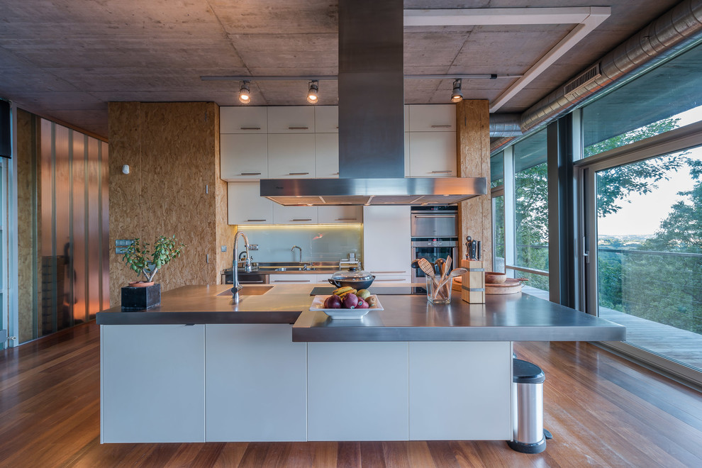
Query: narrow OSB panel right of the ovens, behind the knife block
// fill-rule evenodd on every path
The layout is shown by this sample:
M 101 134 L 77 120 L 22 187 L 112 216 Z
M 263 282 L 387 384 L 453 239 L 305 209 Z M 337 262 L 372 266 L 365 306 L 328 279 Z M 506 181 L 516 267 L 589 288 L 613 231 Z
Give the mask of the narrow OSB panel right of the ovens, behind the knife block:
M 490 198 L 490 111 L 484 99 L 456 105 L 459 177 L 485 177 L 488 194 L 462 201 L 458 210 L 459 252 L 465 258 L 467 235 L 481 241 L 482 260 L 492 271 L 492 202 Z

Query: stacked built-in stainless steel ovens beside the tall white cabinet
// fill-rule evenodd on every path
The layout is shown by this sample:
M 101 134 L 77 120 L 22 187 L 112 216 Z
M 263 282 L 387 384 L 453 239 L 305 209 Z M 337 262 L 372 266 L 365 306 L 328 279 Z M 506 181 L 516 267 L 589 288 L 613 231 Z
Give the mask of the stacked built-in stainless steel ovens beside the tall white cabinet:
M 448 255 L 458 261 L 458 208 L 448 206 L 413 206 L 411 208 L 412 258 L 425 258 L 434 263 Z M 452 266 L 455 268 L 455 265 Z M 425 274 L 412 269 L 412 282 L 423 282 Z

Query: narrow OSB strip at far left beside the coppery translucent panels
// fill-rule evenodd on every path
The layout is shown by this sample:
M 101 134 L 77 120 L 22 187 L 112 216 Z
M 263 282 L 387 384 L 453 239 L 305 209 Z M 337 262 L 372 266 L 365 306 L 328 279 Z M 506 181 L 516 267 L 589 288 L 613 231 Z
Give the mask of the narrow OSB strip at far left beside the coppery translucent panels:
M 36 130 L 34 117 L 31 113 L 18 109 L 17 111 L 17 240 L 18 240 L 18 342 L 26 342 L 33 338 L 34 301 L 38 300 L 38 287 L 34 282 L 34 272 L 41 277 L 41 262 L 34 255 L 33 240 L 36 233 L 34 222 L 38 221 L 35 209 L 35 190 L 38 175 L 34 164 Z M 35 169 L 33 169 L 35 167 Z M 41 196 L 36 199 L 38 202 Z M 40 207 L 37 207 L 40 208 Z M 36 239 L 37 243 L 41 239 Z M 41 249 L 41 246 L 38 246 Z M 41 251 L 41 250 L 39 250 Z

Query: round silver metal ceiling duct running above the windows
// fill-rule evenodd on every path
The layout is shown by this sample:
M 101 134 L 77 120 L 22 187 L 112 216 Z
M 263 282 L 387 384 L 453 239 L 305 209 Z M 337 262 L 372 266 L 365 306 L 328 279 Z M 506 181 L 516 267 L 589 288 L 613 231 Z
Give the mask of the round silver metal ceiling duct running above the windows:
M 587 80 L 572 91 L 567 91 L 565 85 L 558 87 L 525 111 L 520 118 L 522 133 L 526 134 L 554 121 L 576 106 L 594 99 L 597 94 L 613 84 L 623 84 L 625 79 L 639 76 L 677 52 L 685 50 L 701 37 L 702 0 L 681 1 L 586 69 L 588 72 L 599 66 L 598 77 Z M 579 74 L 579 77 L 586 72 Z M 516 135 L 493 135 L 492 131 L 491 136 L 506 137 L 491 145 L 493 152 L 516 138 Z

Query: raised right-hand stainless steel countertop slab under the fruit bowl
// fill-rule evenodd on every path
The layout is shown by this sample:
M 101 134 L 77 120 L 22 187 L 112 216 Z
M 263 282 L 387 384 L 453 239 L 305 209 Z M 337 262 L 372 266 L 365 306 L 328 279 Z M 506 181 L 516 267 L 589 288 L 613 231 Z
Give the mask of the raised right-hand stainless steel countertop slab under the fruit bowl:
M 383 311 L 358 320 L 332 320 L 305 311 L 293 341 L 622 341 L 626 328 L 524 293 L 488 295 L 469 304 L 454 291 L 448 305 L 425 296 L 382 296 Z

